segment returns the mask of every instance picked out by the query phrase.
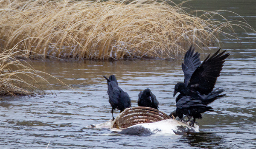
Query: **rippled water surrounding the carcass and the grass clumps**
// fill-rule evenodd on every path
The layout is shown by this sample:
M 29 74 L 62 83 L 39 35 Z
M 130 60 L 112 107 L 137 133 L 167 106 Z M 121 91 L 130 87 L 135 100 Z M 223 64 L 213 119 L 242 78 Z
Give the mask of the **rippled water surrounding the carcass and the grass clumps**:
M 254 0 L 198 0 L 188 4 L 198 10 L 234 11 L 256 26 Z M 222 15 L 241 20 L 228 12 Z M 50 73 L 81 93 L 49 78 L 57 96 L 1 100 L 0 149 L 45 149 L 49 142 L 48 149 L 255 149 L 256 34 L 234 29 L 241 42 L 221 39 L 222 49 L 230 56 L 215 85 L 223 87 L 227 96 L 210 104 L 214 112 L 206 112 L 198 120 L 200 133 L 139 137 L 86 128 L 111 119 L 107 82 L 102 75 L 115 74 L 134 107 L 139 91 L 150 88 L 161 111 L 169 114 L 175 110 L 174 85 L 183 81 L 180 60 L 34 62 L 35 69 Z

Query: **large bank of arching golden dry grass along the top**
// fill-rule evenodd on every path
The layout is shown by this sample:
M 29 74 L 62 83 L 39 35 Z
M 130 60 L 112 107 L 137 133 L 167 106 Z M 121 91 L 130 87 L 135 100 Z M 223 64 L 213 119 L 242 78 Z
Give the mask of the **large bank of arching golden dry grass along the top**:
M 218 46 L 223 29 L 233 33 L 238 25 L 213 20 L 218 12 L 196 17 L 180 6 L 169 0 L 1 0 L 0 50 L 17 47 L 32 58 L 175 58 L 191 44 Z

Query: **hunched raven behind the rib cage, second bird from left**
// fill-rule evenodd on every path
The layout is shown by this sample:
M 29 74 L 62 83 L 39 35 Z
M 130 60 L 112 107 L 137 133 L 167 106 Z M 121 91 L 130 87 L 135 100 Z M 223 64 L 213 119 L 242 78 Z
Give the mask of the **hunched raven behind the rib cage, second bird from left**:
M 148 88 L 140 91 L 138 99 L 138 106 L 141 107 L 151 107 L 158 110 L 159 102 L 157 101 L 157 97 L 149 90 Z

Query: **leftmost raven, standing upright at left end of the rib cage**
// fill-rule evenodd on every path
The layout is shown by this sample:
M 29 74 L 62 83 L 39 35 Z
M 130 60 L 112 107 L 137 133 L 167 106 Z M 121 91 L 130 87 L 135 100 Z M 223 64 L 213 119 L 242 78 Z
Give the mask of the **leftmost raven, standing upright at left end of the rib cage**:
M 112 107 L 111 113 L 114 120 L 113 111 L 118 109 L 122 112 L 125 108 L 131 107 L 131 98 L 118 86 L 115 75 L 109 76 L 109 79 L 106 76 L 104 78 L 108 81 L 108 102 Z

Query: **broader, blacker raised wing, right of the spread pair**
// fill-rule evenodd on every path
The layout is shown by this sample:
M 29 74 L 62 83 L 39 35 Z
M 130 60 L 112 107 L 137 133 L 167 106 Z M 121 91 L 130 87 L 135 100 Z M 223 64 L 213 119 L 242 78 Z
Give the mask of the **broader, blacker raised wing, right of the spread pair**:
M 195 70 L 187 86 L 190 90 L 198 91 L 201 95 L 207 95 L 212 92 L 217 78 L 220 76 L 223 63 L 229 56 L 229 53 L 223 55 L 225 51 L 218 54 L 220 50 L 210 58 L 210 55 L 208 55 L 204 62 Z

